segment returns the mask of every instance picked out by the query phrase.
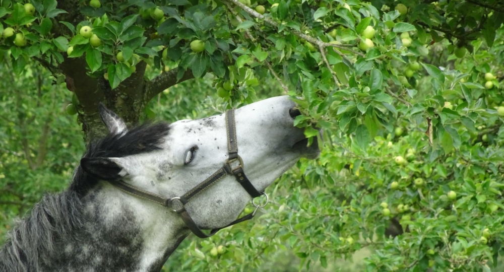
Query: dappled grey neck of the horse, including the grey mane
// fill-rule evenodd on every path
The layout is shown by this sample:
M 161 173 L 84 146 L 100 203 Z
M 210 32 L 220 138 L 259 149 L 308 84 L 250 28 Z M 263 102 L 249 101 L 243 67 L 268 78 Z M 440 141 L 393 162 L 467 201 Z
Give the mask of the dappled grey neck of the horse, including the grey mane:
M 69 194 L 50 196 L 59 208 L 43 200 L 33 209 L 0 250 L 0 268 L 7 259 L 6 267 L 19 265 L 9 271 L 159 271 L 188 235 L 166 208 L 107 182 L 82 199 Z

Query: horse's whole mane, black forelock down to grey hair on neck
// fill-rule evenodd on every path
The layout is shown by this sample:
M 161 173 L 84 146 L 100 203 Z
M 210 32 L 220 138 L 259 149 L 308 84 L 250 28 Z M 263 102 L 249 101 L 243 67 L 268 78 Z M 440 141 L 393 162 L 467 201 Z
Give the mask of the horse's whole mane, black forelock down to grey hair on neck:
M 167 123 L 144 123 L 124 134 L 109 134 L 90 143 L 83 157 L 124 157 L 155 151 L 168 132 Z M 82 197 L 97 183 L 98 179 L 79 165 L 67 190 L 44 195 L 0 247 L 0 271 L 38 271 L 49 264 L 57 240 L 83 228 Z

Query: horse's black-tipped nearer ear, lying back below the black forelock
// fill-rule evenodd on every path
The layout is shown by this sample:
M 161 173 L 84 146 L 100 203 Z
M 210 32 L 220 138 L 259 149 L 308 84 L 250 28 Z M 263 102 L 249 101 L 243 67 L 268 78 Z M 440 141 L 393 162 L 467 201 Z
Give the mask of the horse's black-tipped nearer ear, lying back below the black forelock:
M 82 158 L 81 167 L 100 180 L 118 180 L 125 176 L 124 169 L 110 158 Z

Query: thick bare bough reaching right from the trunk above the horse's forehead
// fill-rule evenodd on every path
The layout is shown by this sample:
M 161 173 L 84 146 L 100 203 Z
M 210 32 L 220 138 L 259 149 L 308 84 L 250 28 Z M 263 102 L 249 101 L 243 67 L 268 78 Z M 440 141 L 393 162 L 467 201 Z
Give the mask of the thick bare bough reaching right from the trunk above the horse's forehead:
M 191 71 L 190 69 L 187 69 L 185 71 L 184 75 L 179 81 L 177 81 L 177 73 L 178 73 L 178 67 L 166 73 L 162 73 L 161 75 L 157 76 L 156 78 L 148 82 L 145 86 L 145 96 L 144 96 L 145 101 L 146 102 L 150 101 L 157 94 L 161 93 L 162 91 L 170 88 L 171 86 L 177 83 L 194 79 L 193 71 Z

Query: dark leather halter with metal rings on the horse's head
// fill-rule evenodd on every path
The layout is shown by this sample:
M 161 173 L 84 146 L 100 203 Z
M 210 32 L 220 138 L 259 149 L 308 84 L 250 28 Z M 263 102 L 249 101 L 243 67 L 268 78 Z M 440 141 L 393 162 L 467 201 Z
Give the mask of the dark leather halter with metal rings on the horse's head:
M 245 176 L 245 172 L 243 171 L 243 161 L 241 160 L 241 157 L 238 155 L 238 143 L 236 141 L 236 124 L 234 121 L 234 109 L 230 109 L 226 111 L 226 131 L 227 131 L 227 151 L 228 151 L 228 159 L 224 163 L 224 166 L 217 170 L 215 173 L 213 173 L 209 178 L 205 179 L 203 182 L 198 184 L 196 187 L 193 189 L 189 190 L 182 196 L 178 197 L 172 197 L 172 198 L 165 198 L 161 195 L 145 191 L 141 188 L 138 188 L 136 186 L 130 185 L 128 183 L 125 183 L 122 180 L 111 180 L 108 181 L 112 185 L 116 186 L 117 188 L 129 193 L 133 194 L 137 197 L 144 198 L 150 201 L 153 201 L 155 203 L 158 203 L 161 206 L 164 207 L 173 207 L 173 206 L 178 206 L 178 209 L 173 209 L 174 212 L 177 212 L 181 217 L 182 220 L 184 221 L 185 225 L 194 233 L 196 236 L 200 238 L 207 238 L 215 233 L 217 233 L 219 230 L 229 227 L 231 225 L 252 219 L 255 215 L 258 209 L 263 208 L 266 206 L 268 203 L 268 195 L 264 192 L 259 192 L 252 183 L 250 183 L 250 180 Z M 218 228 L 218 229 L 213 229 L 210 231 L 209 234 L 205 234 L 193 221 L 191 216 L 187 213 L 185 210 L 185 205 L 188 201 L 190 201 L 193 197 L 195 197 L 198 193 L 204 191 L 207 189 L 210 185 L 214 184 L 216 181 L 220 180 L 223 178 L 225 175 L 233 175 L 236 178 L 236 181 L 248 192 L 248 194 L 252 197 L 252 203 L 256 207 L 254 212 L 247 214 L 243 216 L 242 218 L 236 219 L 235 221 L 231 222 L 225 227 Z M 254 202 L 254 198 L 261 196 L 261 195 L 266 196 L 266 202 L 261 205 L 261 203 L 257 204 Z M 176 203 L 178 202 L 178 203 Z M 177 205 L 178 204 L 178 205 Z

